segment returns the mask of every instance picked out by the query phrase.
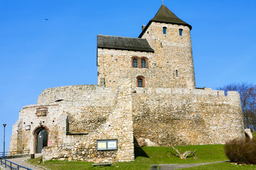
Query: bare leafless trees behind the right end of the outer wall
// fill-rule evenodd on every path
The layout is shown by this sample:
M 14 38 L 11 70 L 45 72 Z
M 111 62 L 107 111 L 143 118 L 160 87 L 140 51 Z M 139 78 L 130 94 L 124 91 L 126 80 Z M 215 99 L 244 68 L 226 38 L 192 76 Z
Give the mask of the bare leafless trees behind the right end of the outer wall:
M 242 106 L 242 115 L 244 118 L 245 128 L 250 128 L 252 132 L 256 130 L 256 85 L 240 83 L 228 84 L 218 88 L 218 90 L 238 91 Z

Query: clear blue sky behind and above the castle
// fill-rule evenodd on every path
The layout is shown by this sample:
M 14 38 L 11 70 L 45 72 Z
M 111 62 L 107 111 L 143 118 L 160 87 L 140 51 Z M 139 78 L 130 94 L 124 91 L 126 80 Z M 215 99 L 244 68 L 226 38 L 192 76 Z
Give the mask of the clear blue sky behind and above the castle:
M 193 27 L 197 87 L 256 84 L 255 0 L 164 4 Z M 0 0 L 0 123 L 7 124 L 6 148 L 18 111 L 35 104 L 43 89 L 97 84 L 97 34 L 137 38 L 160 6 L 161 0 Z

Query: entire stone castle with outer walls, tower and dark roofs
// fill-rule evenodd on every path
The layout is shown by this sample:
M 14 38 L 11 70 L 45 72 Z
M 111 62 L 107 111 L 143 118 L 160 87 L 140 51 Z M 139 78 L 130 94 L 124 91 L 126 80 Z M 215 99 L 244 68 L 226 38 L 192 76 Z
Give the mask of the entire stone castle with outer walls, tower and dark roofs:
M 134 146 L 244 138 L 238 92 L 196 88 L 191 28 L 163 4 L 139 38 L 97 35 L 97 85 L 43 90 L 21 109 L 9 151 L 122 162 Z

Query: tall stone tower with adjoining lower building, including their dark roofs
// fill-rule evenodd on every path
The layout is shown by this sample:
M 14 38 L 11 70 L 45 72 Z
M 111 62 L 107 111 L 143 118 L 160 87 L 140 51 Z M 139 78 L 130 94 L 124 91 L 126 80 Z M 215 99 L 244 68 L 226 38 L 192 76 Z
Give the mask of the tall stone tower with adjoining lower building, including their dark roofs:
M 144 87 L 195 89 L 191 28 L 162 5 L 139 38 L 98 35 L 98 84 L 116 86 L 118 77 L 127 77 L 135 87 L 142 77 Z

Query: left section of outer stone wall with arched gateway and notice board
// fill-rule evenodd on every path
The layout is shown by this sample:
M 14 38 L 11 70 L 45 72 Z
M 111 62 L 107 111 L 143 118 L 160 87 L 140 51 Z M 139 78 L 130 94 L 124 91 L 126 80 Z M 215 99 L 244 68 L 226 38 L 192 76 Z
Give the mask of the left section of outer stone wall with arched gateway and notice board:
M 45 160 L 133 160 L 131 81 L 119 79 L 118 83 L 117 89 L 82 85 L 44 90 L 38 104 L 21 109 L 10 151 L 30 149 L 36 153 L 36 130 L 45 128 L 50 142 L 43 149 Z M 47 114 L 38 116 L 42 108 Z M 117 140 L 118 149 L 97 152 L 97 140 L 109 139 Z

